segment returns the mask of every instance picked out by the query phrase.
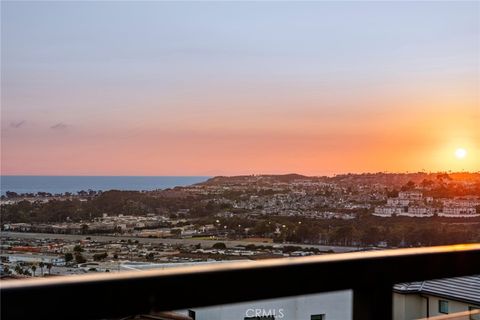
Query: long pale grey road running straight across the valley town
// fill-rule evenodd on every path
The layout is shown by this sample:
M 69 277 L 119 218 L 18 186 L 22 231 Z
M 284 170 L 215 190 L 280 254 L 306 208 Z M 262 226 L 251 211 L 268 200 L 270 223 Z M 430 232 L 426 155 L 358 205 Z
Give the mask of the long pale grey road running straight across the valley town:
M 251 242 L 251 241 L 242 241 L 242 240 L 200 240 L 194 238 L 185 238 L 185 239 L 165 239 L 165 238 L 143 238 L 143 237 L 129 237 L 129 236 L 108 236 L 108 235 L 76 235 L 76 234 L 53 234 L 53 233 L 27 233 L 27 232 L 1 232 L 2 237 L 11 237 L 19 239 L 61 239 L 61 240 L 70 240 L 70 241 L 79 241 L 85 240 L 89 237 L 91 240 L 96 240 L 99 242 L 108 242 L 108 241 L 119 241 L 119 240 L 138 240 L 139 243 L 164 243 L 164 244 L 182 244 L 182 245 L 195 245 L 200 244 L 203 248 L 210 248 L 214 243 L 223 242 L 228 248 L 239 246 L 239 245 L 272 245 L 276 247 L 283 246 L 298 246 L 302 248 L 317 248 L 321 251 L 332 250 L 336 253 L 341 252 L 350 252 L 357 251 L 357 247 L 339 247 L 339 246 L 322 246 L 322 245 L 311 245 L 311 244 L 294 244 L 294 243 L 262 243 L 262 242 Z

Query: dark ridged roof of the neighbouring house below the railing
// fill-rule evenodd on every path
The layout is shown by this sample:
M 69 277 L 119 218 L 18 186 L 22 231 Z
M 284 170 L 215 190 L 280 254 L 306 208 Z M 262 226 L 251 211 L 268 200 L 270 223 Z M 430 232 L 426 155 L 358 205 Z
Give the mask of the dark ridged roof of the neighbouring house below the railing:
M 480 275 L 399 283 L 399 293 L 422 293 L 480 305 Z

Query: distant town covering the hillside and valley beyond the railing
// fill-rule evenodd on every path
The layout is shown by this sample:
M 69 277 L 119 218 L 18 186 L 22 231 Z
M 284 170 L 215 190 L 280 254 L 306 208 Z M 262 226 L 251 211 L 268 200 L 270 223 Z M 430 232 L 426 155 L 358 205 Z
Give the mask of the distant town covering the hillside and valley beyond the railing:
M 480 241 L 480 173 L 215 177 L 155 191 L 1 197 L 24 278 Z

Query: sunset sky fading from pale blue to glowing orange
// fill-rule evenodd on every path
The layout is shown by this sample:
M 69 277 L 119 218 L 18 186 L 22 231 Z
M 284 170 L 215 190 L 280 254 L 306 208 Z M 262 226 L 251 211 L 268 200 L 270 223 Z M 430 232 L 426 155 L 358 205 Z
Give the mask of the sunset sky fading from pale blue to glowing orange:
M 1 18 L 2 174 L 480 170 L 478 1 L 2 2 Z

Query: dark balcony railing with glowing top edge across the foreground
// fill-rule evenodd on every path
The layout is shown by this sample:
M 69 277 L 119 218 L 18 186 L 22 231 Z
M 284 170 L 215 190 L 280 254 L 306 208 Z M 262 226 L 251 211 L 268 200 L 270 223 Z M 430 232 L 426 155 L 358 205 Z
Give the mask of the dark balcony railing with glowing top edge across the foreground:
M 480 244 L 4 281 L 2 319 L 104 319 L 353 290 L 353 319 L 391 319 L 395 283 L 480 273 Z

